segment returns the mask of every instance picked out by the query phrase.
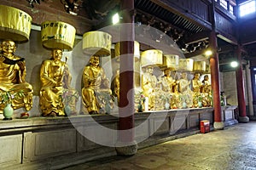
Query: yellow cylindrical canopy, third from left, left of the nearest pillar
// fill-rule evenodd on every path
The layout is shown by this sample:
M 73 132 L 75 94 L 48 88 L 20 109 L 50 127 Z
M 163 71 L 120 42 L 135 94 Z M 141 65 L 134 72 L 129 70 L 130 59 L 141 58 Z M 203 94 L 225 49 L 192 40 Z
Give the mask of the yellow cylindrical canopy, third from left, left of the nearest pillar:
M 83 35 L 85 54 L 108 56 L 111 54 L 112 36 L 103 31 L 89 31 Z

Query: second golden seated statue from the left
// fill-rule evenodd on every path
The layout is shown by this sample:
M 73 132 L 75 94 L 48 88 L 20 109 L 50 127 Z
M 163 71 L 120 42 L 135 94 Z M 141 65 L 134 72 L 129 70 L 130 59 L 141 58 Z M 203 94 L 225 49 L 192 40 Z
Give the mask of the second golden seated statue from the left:
M 63 104 L 63 76 L 67 65 L 61 61 L 61 49 L 53 49 L 51 59 L 41 65 L 40 107 L 43 116 L 65 116 Z

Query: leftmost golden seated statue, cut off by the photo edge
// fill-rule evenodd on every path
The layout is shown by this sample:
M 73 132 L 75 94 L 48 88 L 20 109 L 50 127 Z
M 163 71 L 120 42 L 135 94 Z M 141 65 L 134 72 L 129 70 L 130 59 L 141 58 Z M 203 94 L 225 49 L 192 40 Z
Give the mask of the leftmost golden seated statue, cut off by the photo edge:
M 16 56 L 15 42 L 4 40 L 0 49 L 0 101 L 3 101 L 3 94 L 8 93 L 14 109 L 25 107 L 26 111 L 32 108 L 32 85 L 26 82 L 25 59 Z M 1 102 L 0 112 L 6 104 Z

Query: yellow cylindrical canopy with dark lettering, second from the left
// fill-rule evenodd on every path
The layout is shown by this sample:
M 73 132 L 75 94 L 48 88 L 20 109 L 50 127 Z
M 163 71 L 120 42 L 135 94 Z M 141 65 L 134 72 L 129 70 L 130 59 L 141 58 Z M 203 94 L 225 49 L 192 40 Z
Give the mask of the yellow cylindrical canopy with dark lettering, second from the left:
M 44 48 L 67 49 L 73 48 L 76 29 L 61 21 L 45 21 L 41 25 L 41 37 Z

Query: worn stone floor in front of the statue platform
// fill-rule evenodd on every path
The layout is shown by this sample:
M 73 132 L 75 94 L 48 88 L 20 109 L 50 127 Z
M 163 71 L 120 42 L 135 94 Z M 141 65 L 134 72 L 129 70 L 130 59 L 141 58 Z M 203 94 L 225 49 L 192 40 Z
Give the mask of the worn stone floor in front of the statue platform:
M 198 133 L 65 170 L 256 170 L 256 122 Z

